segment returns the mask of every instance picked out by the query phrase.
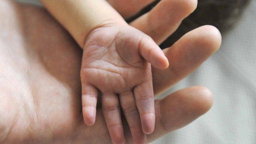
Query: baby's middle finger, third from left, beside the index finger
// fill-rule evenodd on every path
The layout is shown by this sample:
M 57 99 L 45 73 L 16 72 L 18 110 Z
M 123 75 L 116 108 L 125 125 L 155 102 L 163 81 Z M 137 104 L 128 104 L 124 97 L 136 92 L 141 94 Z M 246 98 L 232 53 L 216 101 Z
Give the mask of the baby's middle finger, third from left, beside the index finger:
M 123 92 L 119 96 L 122 110 L 129 125 L 135 144 L 146 143 L 146 134 L 142 131 L 140 114 L 138 112 L 133 92 Z

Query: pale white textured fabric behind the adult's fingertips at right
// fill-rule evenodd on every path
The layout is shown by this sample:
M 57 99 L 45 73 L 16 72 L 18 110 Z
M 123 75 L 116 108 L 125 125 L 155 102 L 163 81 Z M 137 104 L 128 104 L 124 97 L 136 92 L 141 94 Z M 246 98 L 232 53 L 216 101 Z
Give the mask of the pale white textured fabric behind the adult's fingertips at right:
M 36 0 L 18 1 L 40 4 Z M 160 97 L 194 85 L 212 90 L 212 109 L 152 144 L 256 144 L 255 0 L 234 29 L 223 35 L 221 49 Z

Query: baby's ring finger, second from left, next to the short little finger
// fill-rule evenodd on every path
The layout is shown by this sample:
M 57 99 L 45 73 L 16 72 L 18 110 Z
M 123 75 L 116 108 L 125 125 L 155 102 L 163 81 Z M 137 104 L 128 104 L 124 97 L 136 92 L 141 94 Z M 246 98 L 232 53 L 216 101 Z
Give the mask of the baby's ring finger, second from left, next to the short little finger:
M 106 120 L 112 142 L 114 144 L 124 144 L 124 129 L 122 125 L 119 100 L 116 94 L 102 94 L 102 112 Z

